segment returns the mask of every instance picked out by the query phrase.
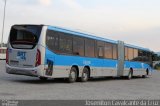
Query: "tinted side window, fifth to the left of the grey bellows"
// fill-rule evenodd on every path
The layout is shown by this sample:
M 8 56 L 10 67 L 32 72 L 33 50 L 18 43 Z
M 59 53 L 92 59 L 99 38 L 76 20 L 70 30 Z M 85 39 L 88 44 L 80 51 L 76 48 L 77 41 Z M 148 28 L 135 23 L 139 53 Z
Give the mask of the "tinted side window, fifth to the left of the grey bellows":
M 84 39 L 80 37 L 73 38 L 73 54 L 84 56 Z

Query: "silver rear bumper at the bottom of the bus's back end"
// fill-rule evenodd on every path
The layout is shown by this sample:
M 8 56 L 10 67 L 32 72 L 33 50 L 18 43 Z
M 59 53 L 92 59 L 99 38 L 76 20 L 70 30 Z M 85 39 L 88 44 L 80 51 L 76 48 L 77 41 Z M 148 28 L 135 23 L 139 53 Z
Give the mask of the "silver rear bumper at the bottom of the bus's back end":
M 38 71 L 40 67 L 41 66 L 35 68 L 19 68 L 19 67 L 9 66 L 8 64 L 6 64 L 6 72 L 8 74 L 39 77 L 42 76 L 42 73 Z

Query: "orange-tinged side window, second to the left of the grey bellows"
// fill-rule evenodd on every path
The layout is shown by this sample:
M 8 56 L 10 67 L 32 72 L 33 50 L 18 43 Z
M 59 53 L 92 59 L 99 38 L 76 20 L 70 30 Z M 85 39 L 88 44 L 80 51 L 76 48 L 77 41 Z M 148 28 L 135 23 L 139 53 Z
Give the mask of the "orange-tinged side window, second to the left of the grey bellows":
M 113 58 L 113 46 L 110 43 L 105 43 L 105 54 L 104 57 L 108 58 L 108 59 L 112 59 Z

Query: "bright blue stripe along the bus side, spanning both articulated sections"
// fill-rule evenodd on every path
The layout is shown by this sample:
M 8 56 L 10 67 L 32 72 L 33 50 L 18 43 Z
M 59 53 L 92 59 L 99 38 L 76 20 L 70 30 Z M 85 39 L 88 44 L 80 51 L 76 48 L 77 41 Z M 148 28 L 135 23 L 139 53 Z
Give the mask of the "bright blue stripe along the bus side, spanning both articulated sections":
M 106 68 L 116 68 L 118 60 L 110 59 L 97 59 L 89 57 L 79 57 L 79 56 L 68 56 L 68 55 L 57 55 L 52 51 L 46 49 L 45 64 L 47 65 L 47 60 L 54 62 L 57 66 L 90 66 L 90 67 L 106 67 Z M 125 61 L 125 68 L 133 69 L 151 69 L 148 64 L 141 62 L 129 62 Z

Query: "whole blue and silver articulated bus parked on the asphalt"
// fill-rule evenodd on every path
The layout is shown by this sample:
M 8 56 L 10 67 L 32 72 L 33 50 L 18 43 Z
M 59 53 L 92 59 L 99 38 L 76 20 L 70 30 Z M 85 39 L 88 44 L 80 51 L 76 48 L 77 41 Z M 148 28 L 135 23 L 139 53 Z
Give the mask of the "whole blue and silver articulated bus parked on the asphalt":
M 14 25 L 6 53 L 9 74 L 65 78 L 146 77 L 152 73 L 149 49 L 48 25 Z

